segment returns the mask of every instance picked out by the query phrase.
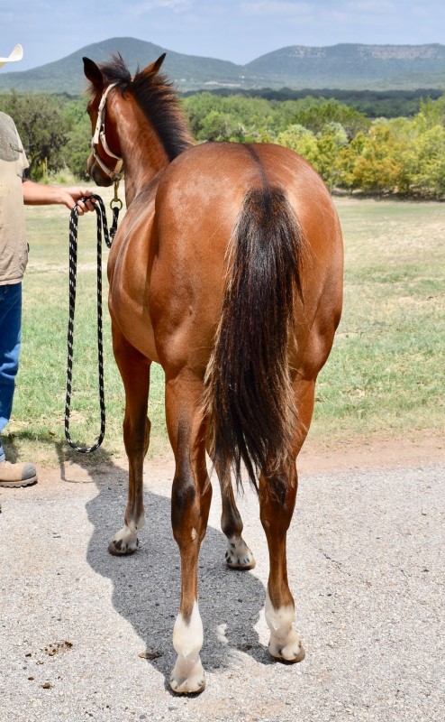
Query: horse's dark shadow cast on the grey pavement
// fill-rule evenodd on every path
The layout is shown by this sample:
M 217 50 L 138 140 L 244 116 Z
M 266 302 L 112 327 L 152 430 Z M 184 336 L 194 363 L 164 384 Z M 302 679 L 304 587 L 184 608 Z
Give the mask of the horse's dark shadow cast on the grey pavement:
M 141 532 L 141 548 L 129 557 L 113 557 L 107 547 L 123 525 L 127 482 L 123 469 L 113 462 L 108 465 L 109 473 L 104 471 L 106 467 L 88 467 L 98 494 L 86 504 L 94 527 L 86 558 L 95 572 L 113 582 L 114 609 L 144 641 L 146 650 L 141 652 L 164 675 L 169 690 L 176 659 L 172 633 L 180 595 L 180 560 L 170 525 L 170 499 L 151 493 L 150 482 L 149 488 L 144 487 L 147 525 Z M 213 494 L 219 492 L 216 486 L 213 480 Z M 209 525 L 199 563 L 199 606 L 204 624 L 201 657 L 207 671 L 239 666 L 237 651 L 250 654 L 258 662 L 272 663 L 254 629 L 264 605 L 265 588 L 250 572 L 227 569 L 225 549 L 223 533 Z

